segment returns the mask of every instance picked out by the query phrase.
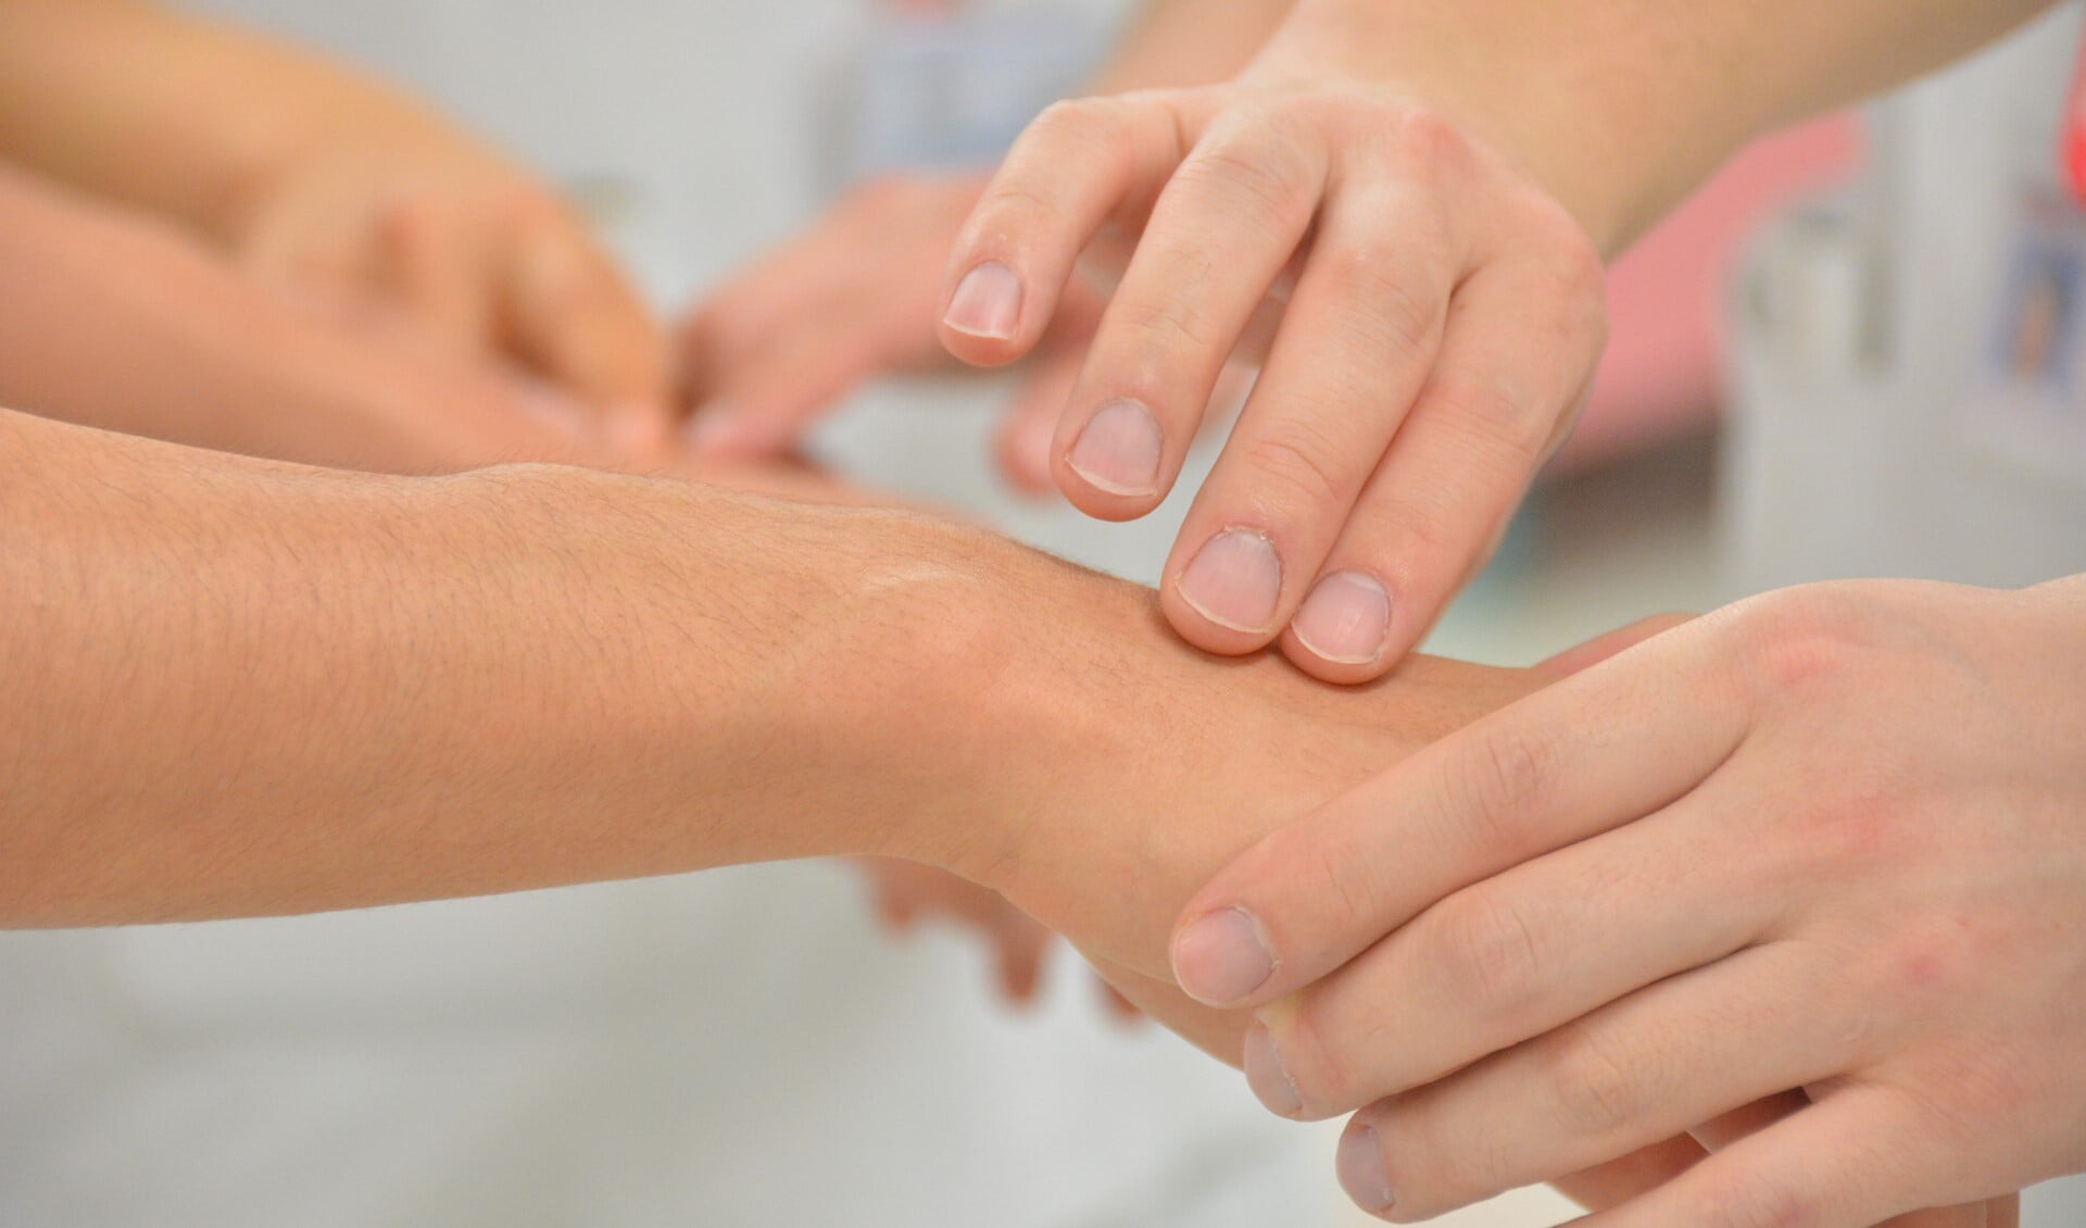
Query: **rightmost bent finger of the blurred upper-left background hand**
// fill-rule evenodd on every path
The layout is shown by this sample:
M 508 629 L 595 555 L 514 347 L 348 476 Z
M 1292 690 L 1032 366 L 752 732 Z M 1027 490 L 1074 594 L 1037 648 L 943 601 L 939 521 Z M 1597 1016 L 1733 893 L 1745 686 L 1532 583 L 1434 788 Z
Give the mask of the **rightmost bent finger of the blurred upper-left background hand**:
M 651 311 L 574 223 L 519 225 L 505 263 L 515 357 L 599 404 L 611 442 L 663 446 L 668 359 Z

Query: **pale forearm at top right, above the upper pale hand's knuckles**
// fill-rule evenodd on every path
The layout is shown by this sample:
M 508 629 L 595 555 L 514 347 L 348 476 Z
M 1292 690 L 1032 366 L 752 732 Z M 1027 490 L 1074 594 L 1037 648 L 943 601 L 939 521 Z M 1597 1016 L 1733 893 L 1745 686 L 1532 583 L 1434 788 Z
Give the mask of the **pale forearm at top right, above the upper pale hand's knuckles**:
M 1754 136 L 1907 81 L 2053 0 L 1300 0 L 1264 65 L 1410 83 L 1615 252 Z

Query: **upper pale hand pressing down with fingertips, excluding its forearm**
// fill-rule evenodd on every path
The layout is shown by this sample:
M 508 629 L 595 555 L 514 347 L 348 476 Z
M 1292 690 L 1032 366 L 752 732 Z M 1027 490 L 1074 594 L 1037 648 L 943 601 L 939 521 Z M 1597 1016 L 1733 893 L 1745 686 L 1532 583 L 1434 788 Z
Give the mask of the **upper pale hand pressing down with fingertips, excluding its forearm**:
M 1166 563 L 1166 617 L 1212 653 L 1281 640 L 1364 682 L 1491 555 L 1606 323 L 1600 252 L 1521 150 L 1356 67 L 1345 33 L 1297 19 L 1231 85 L 1045 113 L 955 244 L 943 340 L 1020 359 L 1083 250 L 1135 252 L 1051 450 L 1103 519 L 1158 507 L 1218 371 L 1268 344 Z

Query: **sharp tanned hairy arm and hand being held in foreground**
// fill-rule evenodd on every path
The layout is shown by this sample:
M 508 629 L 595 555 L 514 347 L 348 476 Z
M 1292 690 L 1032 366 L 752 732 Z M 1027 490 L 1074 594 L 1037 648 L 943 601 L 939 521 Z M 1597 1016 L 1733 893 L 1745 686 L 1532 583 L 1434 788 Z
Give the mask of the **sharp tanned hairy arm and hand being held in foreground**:
M 909 513 L 0 446 L 6 926 L 882 853 L 1164 978 L 1227 857 L 1533 686 L 1214 663 L 1145 590 Z

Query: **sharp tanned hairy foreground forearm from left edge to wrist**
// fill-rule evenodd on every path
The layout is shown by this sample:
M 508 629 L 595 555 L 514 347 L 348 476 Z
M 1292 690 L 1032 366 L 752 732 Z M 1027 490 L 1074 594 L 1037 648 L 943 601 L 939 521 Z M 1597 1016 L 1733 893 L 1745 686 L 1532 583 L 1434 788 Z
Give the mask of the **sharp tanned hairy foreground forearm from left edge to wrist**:
M 6 926 L 926 855 L 957 799 L 993 817 L 960 713 L 914 703 L 962 653 L 968 530 L 0 440 Z

